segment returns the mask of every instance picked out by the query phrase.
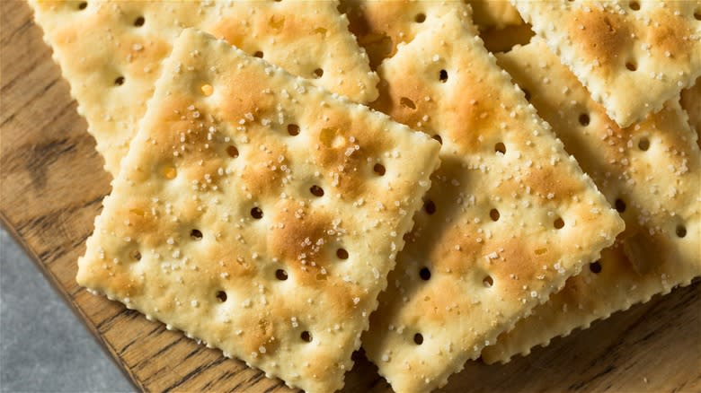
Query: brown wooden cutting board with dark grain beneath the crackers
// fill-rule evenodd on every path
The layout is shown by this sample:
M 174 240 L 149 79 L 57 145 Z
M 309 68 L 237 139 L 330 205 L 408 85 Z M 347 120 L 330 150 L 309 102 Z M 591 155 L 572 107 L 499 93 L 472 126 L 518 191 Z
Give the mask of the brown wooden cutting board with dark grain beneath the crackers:
M 289 391 L 75 284 L 110 176 L 31 11 L 0 1 L 0 218 L 140 389 Z M 86 34 L 89 34 L 86 31 Z M 700 250 L 701 252 L 701 250 Z M 701 286 L 619 312 L 506 365 L 468 362 L 444 391 L 701 391 Z M 362 353 L 345 391 L 391 391 Z

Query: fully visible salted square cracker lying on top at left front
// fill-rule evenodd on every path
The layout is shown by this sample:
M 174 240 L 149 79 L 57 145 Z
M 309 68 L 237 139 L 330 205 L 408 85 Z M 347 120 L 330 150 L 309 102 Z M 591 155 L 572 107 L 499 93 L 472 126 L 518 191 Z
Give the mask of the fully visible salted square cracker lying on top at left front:
M 78 284 L 340 389 L 439 144 L 192 29 L 162 69 Z

